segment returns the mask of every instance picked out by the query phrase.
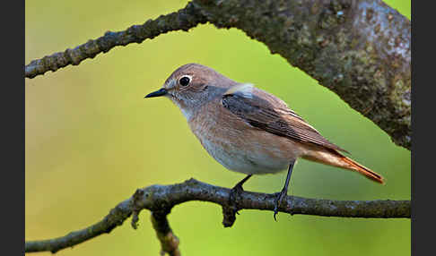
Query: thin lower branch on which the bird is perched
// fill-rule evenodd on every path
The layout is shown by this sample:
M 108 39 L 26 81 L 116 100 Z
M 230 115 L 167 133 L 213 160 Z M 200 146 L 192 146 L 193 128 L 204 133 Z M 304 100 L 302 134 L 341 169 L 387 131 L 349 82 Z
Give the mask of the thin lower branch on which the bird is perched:
M 57 252 L 92 237 L 109 233 L 123 224 L 133 214 L 132 226 L 136 228 L 142 209 L 152 211 L 153 227 L 161 241 L 162 252 L 180 255 L 179 239 L 172 233 L 166 216 L 170 210 L 186 201 L 209 201 L 222 206 L 224 226 L 232 226 L 235 209 L 229 204 L 231 190 L 201 183 L 195 179 L 171 185 L 152 185 L 136 190 L 135 194 L 111 209 L 100 222 L 68 235 L 25 243 L 25 252 Z M 275 194 L 242 192 L 238 209 L 274 210 Z M 279 211 L 284 213 L 349 218 L 410 218 L 410 201 L 331 201 L 288 196 Z

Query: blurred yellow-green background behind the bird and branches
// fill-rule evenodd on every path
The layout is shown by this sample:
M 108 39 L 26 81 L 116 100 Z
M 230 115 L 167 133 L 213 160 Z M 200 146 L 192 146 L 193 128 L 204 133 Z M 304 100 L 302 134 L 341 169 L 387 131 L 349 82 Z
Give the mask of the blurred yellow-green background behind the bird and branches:
M 410 1 L 385 1 L 410 19 Z M 76 47 L 105 31 L 125 30 L 187 1 L 26 1 L 26 59 Z M 409 200 L 410 151 L 319 86 L 280 55 L 236 29 L 200 25 L 142 44 L 116 47 L 26 79 L 26 240 L 66 235 L 103 218 L 136 188 L 194 177 L 231 187 L 244 175 L 226 170 L 202 149 L 179 109 L 166 98 L 144 100 L 179 65 L 196 62 L 283 98 L 327 139 L 384 175 L 379 185 L 351 172 L 299 161 L 290 194 L 332 200 Z M 278 192 L 285 172 L 244 186 Z M 57 255 L 158 255 L 150 212 L 109 235 Z M 184 255 L 409 255 L 410 219 L 290 216 L 241 210 L 222 227 L 218 205 L 192 201 L 174 208 L 170 225 Z M 49 255 L 49 252 L 40 253 Z

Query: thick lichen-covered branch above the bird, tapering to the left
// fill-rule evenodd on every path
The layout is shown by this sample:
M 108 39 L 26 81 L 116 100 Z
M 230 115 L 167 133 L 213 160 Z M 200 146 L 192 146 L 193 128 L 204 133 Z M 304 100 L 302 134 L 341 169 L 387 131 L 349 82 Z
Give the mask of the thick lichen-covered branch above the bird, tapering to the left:
M 381 0 L 193 0 L 178 12 L 34 60 L 25 76 L 207 21 L 265 43 L 411 149 L 411 23 Z

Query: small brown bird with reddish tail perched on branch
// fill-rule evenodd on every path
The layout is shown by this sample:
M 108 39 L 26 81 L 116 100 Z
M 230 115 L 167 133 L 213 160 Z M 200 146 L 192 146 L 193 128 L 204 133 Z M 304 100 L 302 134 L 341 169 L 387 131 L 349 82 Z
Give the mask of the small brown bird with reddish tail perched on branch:
M 297 158 L 358 172 L 383 183 L 383 177 L 345 157 L 315 128 L 295 114 L 280 98 L 249 83 L 239 83 L 201 64 L 179 67 L 145 98 L 170 98 L 187 118 L 187 124 L 206 151 L 222 166 L 246 174 L 231 190 L 242 192 L 251 175 L 274 174 L 288 168 L 278 206 L 287 195 Z

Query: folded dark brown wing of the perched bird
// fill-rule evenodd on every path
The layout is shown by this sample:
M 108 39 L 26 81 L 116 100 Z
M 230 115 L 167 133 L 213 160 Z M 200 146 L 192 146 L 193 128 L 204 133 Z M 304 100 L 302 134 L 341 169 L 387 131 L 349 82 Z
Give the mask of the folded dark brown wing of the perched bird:
M 231 87 L 222 95 L 222 106 L 246 123 L 266 132 L 283 136 L 293 141 L 316 144 L 327 149 L 347 152 L 307 124 L 293 112 L 283 100 L 251 84 Z

